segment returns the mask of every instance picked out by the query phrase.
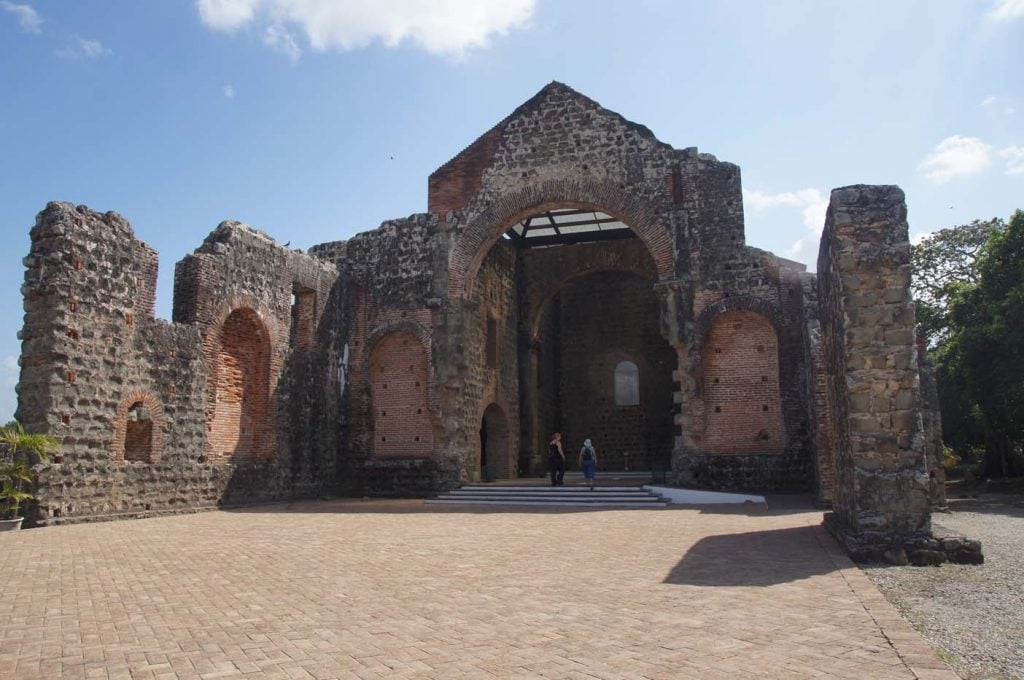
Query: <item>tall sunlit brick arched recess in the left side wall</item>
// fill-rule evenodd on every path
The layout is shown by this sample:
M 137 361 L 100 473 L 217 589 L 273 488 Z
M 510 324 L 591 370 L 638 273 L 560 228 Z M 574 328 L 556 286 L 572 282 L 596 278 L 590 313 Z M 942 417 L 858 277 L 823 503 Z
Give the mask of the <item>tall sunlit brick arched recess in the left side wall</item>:
M 270 335 L 259 314 L 249 307 L 227 314 L 215 351 L 210 457 L 234 463 L 271 457 Z

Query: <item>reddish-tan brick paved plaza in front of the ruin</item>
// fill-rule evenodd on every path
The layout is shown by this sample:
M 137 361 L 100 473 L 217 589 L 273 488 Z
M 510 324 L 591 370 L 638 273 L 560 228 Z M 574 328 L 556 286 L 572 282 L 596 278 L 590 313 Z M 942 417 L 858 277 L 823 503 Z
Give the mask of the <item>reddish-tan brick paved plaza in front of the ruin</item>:
M 955 678 L 807 508 L 321 502 L 0 535 L 0 678 Z

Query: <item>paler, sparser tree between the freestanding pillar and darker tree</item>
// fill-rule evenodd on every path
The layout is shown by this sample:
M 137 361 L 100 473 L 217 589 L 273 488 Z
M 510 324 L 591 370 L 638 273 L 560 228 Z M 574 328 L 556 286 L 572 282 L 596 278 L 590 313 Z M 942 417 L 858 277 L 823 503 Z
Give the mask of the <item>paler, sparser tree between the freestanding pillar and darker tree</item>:
M 949 299 L 964 284 L 977 284 L 975 262 L 992 233 L 1006 227 L 998 217 L 941 229 L 913 247 L 910 290 L 918 306 L 918 331 L 929 347 L 950 335 Z

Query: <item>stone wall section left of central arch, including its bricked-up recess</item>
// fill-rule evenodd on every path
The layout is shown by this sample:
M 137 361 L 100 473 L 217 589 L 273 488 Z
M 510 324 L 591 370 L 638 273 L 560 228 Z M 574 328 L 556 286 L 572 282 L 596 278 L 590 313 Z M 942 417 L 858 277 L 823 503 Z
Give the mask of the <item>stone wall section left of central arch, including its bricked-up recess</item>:
M 437 292 L 444 248 L 438 216 L 419 214 L 309 251 L 340 272 L 330 342 L 345 376 L 338 385 L 344 493 L 425 495 L 458 485 L 467 454 L 445 443 L 436 363 L 446 338 Z M 391 391 L 395 379 L 402 394 Z

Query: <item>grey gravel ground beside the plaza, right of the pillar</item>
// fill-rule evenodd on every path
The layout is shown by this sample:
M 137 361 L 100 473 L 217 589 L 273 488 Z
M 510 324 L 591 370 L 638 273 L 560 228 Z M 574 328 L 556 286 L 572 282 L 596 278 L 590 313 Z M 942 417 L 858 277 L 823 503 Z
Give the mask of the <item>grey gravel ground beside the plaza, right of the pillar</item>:
M 984 564 L 864 571 L 963 677 L 1024 678 L 1024 497 L 986 494 L 949 506 L 932 515 L 936 533 L 979 539 Z

